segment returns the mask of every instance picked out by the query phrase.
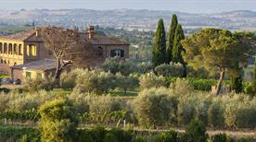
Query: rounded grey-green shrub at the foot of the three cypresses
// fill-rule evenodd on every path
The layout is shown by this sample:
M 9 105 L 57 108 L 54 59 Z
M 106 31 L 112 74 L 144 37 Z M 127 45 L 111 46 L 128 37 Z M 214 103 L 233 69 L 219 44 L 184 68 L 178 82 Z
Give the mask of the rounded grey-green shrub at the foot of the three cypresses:
M 184 68 L 180 64 L 162 64 L 155 68 L 155 72 L 158 76 L 163 77 L 182 77 Z

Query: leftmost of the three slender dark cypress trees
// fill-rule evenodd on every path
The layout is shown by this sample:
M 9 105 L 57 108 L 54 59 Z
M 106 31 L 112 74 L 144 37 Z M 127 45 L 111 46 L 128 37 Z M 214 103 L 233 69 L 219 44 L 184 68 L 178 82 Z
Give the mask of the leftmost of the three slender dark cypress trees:
M 154 37 L 153 44 L 153 65 L 158 66 L 165 63 L 166 59 L 166 39 L 163 19 L 161 18 L 158 22 L 158 28 Z

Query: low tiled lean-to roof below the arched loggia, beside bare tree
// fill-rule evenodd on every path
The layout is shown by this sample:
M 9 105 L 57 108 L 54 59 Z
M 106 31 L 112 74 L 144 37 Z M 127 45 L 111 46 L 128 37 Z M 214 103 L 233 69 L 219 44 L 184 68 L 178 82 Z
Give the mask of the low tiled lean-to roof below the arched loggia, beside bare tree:
M 12 68 L 14 69 L 28 69 L 28 70 L 49 70 L 56 68 L 56 61 L 53 59 L 45 59 L 33 61 L 24 65 L 15 65 Z

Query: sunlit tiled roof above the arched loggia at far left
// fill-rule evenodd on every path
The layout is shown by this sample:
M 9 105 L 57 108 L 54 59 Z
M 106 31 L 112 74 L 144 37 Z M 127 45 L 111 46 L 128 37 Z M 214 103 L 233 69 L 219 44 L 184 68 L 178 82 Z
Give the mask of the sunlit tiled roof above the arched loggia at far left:
M 17 32 L 14 34 L 0 36 L 1 40 L 13 40 L 13 41 L 25 41 L 30 38 L 33 34 L 35 34 L 36 30 L 24 30 L 21 32 Z

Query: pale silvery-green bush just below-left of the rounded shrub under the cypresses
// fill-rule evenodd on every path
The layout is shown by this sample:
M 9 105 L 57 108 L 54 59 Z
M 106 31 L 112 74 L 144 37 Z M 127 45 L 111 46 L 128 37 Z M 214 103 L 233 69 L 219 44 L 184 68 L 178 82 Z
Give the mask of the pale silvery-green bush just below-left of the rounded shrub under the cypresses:
M 142 75 L 139 78 L 140 89 L 166 87 L 167 83 L 164 77 L 157 77 L 154 73 Z

